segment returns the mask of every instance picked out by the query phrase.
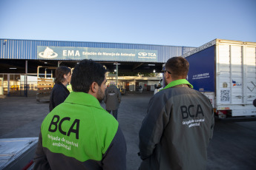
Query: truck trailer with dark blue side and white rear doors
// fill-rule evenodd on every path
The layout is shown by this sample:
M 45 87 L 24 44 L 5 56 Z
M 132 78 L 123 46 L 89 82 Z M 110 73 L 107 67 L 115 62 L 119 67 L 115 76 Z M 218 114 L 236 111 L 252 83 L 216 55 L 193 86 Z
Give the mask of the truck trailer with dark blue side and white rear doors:
M 214 39 L 183 57 L 188 81 L 209 97 L 219 118 L 256 115 L 255 42 Z

